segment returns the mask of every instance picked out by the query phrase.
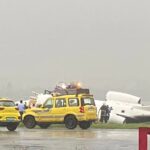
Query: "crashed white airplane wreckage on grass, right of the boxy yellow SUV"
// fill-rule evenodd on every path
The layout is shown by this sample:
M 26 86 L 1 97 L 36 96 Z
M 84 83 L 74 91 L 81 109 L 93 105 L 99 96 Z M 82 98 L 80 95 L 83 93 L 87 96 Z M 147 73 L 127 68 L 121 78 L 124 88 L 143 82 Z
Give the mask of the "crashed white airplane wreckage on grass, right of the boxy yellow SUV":
M 109 91 L 106 100 L 95 100 L 98 119 L 101 117 L 101 106 L 105 103 L 112 108 L 108 122 L 132 123 L 150 121 L 150 106 L 143 106 L 141 98 L 130 94 Z

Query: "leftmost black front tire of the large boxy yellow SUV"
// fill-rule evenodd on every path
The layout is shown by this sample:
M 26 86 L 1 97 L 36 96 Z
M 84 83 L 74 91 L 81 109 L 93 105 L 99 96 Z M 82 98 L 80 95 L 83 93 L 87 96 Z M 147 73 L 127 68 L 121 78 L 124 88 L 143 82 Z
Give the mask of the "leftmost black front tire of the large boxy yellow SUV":
M 33 116 L 26 116 L 23 120 L 23 123 L 24 123 L 25 127 L 28 129 L 32 129 L 36 126 L 36 121 Z

